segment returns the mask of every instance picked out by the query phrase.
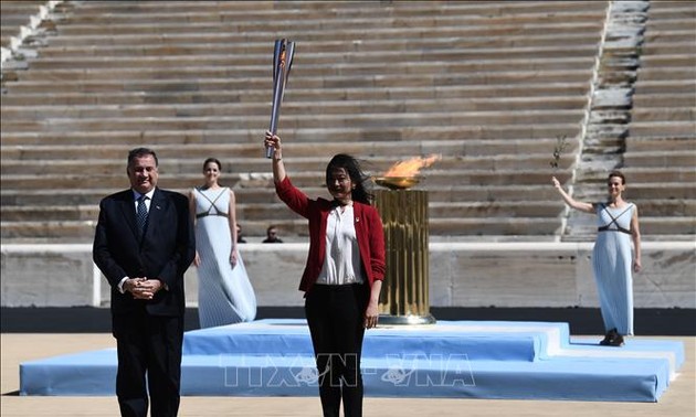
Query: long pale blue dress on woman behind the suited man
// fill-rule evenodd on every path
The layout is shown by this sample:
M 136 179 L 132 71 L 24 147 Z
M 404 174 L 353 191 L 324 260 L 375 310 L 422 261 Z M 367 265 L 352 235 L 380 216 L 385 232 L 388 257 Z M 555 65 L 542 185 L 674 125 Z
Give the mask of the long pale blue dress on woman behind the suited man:
M 198 314 L 201 329 L 252 321 L 256 296 L 238 248 L 236 265 L 230 264 L 232 236 L 229 213 L 230 189 L 193 190 L 196 195 L 196 248 L 198 267 Z

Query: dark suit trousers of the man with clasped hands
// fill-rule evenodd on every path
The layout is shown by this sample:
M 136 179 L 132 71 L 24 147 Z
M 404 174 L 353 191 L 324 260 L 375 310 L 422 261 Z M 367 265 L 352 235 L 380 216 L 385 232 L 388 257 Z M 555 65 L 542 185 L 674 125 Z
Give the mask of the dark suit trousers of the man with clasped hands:
M 150 415 L 175 417 L 180 398 L 183 318 L 150 316 L 143 309 L 114 314 L 113 330 L 118 353 L 116 395 L 120 415 L 146 417 L 149 392 Z

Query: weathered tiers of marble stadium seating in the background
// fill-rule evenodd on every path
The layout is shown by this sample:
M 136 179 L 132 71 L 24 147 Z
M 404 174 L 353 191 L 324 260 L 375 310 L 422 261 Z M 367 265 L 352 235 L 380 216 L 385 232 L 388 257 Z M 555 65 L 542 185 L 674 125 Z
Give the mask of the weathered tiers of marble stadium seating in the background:
M 3 47 L 22 21 L 10 3 L 20 2 L 2 2 Z M 297 44 L 285 160 L 310 195 L 326 193 L 336 152 L 376 175 L 440 153 L 419 185 L 430 191 L 431 239 L 548 242 L 568 234 L 551 175 L 578 180 L 580 195 L 603 191 L 603 172 L 573 170 L 608 2 L 27 3 L 50 12 L 3 62 L 3 242 L 91 242 L 99 199 L 127 186 L 125 156 L 140 145 L 158 151 L 160 185 L 181 192 L 200 183 L 203 159 L 221 159 L 245 234 L 263 235 L 272 218 L 303 240 L 305 222 L 275 197 L 261 146 L 278 38 Z M 651 2 L 647 13 L 621 168 L 644 238 L 687 239 L 695 7 Z M 561 136 L 569 147 L 555 170 Z

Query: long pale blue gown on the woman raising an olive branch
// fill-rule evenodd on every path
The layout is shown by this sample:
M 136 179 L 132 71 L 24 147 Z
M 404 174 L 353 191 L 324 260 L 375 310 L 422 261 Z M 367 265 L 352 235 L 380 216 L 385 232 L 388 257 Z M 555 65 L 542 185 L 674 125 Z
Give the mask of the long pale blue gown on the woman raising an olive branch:
M 634 204 L 620 209 L 598 204 L 598 232 L 592 253 L 592 268 L 599 292 L 604 330 L 616 329 L 619 334 L 633 334 L 633 256 L 629 231 Z

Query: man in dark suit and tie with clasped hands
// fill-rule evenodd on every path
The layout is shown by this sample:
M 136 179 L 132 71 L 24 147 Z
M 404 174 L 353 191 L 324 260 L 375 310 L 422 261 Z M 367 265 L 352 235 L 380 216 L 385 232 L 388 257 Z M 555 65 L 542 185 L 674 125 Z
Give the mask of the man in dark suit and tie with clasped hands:
M 112 287 L 122 416 L 147 416 L 148 392 L 152 417 L 179 408 L 183 272 L 196 237 L 188 199 L 157 188 L 157 170 L 155 151 L 128 153 L 130 189 L 102 200 L 94 237 L 94 261 Z

